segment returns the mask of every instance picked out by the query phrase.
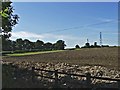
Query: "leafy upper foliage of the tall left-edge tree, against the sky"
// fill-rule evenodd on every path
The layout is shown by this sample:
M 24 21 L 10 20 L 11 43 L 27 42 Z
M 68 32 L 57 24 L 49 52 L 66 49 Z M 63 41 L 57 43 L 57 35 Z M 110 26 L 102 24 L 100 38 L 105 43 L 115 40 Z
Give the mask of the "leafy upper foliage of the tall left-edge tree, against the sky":
M 4 38 L 9 38 L 12 31 L 12 27 L 18 24 L 18 15 L 13 14 L 12 2 L 2 2 L 2 11 L 0 15 L 2 16 L 2 32 Z M 8 36 L 8 37 L 6 37 Z

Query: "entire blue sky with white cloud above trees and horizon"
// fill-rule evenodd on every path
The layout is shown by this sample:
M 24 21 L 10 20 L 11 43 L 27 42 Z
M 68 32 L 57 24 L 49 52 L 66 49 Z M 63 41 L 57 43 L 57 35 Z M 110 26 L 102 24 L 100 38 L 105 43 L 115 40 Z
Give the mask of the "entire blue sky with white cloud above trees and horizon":
M 20 19 L 11 40 L 64 40 L 67 48 L 76 44 L 118 45 L 117 2 L 13 2 Z

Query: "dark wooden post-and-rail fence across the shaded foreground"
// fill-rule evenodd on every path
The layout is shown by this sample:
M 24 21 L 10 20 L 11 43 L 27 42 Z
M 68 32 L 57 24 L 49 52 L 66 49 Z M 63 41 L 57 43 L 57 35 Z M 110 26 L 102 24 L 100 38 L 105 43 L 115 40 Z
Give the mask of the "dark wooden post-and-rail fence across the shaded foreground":
M 35 67 L 32 67 L 32 72 L 33 73 L 34 73 L 35 70 L 54 73 L 55 78 L 53 78 L 53 77 L 47 77 L 47 76 L 43 76 L 43 75 L 39 75 L 39 74 L 33 74 L 32 78 L 34 80 L 35 76 L 41 76 L 41 77 L 44 77 L 44 78 L 54 79 L 55 80 L 55 87 L 58 86 L 58 81 L 59 81 L 58 74 L 65 74 L 65 75 L 69 75 L 69 76 L 85 77 L 86 78 L 86 84 L 87 84 L 88 88 L 91 88 L 91 84 L 92 84 L 91 78 L 92 79 L 109 80 L 109 81 L 117 81 L 118 88 L 120 90 L 120 79 L 112 79 L 112 78 L 106 78 L 106 77 L 91 76 L 90 73 L 86 73 L 85 75 L 80 75 L 80 74 L 71 74 L 71 73 L 66 73 L 66 72 L 59 72 L 58 70 L 52 71 L 52 70 L 36 69 Z

